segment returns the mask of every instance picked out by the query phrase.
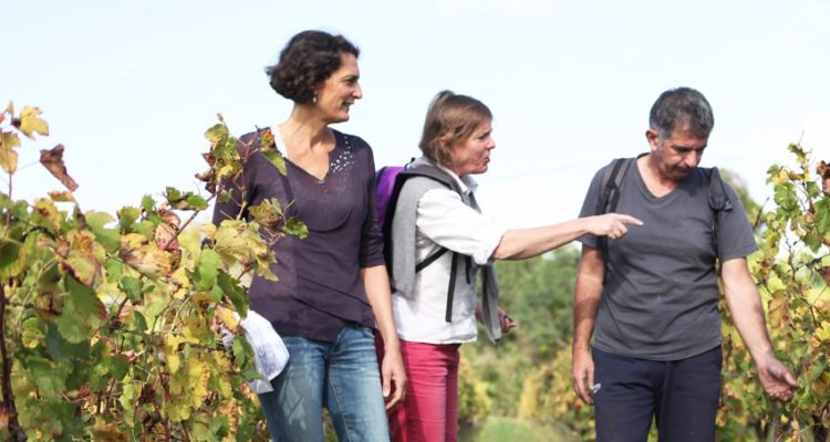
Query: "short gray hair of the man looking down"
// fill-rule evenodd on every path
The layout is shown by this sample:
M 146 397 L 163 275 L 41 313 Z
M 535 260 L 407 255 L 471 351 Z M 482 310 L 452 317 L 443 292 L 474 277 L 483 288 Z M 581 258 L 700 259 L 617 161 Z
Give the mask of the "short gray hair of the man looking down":
M 705 138 L 715 126 L 709 102 L 691 87 L 677 87 L 660 94 L 649 115 L 649 126 L 662 137 L 671 136 L 678 125 L 688 126 L 693 134 Z

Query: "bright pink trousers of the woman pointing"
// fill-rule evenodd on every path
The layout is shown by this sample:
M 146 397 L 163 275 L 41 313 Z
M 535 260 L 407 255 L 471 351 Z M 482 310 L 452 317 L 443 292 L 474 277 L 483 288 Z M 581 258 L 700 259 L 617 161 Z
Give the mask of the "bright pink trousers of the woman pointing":
M 394 442 L 458 439 L 459 346 L 401 340 L 407 382 L 404 402 L 388 412 Z

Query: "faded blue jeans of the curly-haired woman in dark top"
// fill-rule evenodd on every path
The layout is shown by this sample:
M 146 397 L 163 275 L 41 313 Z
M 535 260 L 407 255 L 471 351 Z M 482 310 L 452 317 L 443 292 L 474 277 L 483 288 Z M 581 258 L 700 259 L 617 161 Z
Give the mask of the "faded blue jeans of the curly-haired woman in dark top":
M 372 329 L 346 325 L 334 343 L 283 336 L 290 355 L 259 394 L 271 439 L 323 441 L 323 407 L 340 441 L 388 441 Z

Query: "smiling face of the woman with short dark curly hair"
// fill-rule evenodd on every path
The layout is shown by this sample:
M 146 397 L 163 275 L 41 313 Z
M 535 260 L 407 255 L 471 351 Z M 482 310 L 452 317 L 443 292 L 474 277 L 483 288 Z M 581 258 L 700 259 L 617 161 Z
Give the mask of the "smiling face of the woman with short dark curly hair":
M 326 124 L 349 120 L 349 108 L 363 97 L 359 78 L 357 59 L 350 53 L 341 54 L 340 67 L 317 90 L 314 106 Z

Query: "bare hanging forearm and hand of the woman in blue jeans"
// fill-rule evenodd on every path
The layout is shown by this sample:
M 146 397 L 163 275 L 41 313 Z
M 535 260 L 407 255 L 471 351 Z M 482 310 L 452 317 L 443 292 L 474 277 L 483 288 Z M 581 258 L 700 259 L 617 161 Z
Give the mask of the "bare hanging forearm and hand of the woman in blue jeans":
M 366 287 L 369 304 L 375 315 L 377 328 L 383 337 L 383 361 L 381 361 L 381 380 L 386 409 L 395 407 L 404 399 L 406 391 L 406 371 L 401 357 L 401 341 L 397 339 L 395 319 L 392 315 L 392 294 L 386 267 L 375 265 L 361 270 L 363 284 Z M 394 383 L 394 388 L 393 388 Z

